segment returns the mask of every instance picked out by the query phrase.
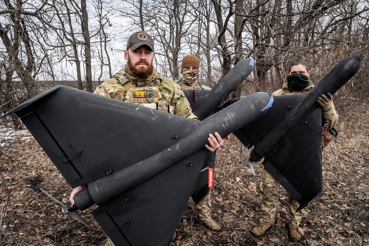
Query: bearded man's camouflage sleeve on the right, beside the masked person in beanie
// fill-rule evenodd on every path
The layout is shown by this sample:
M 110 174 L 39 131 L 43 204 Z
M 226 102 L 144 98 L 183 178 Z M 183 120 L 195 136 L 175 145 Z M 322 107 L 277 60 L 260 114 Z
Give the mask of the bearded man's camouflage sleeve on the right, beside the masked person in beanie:
M 189 101 L 178 84 L 174 84 L 174 96 L 172 99 L 172 105 L 175 106 L 174 114 L 187 117 L 190 119 L 197 119 L 196 115 L 192 112 Z

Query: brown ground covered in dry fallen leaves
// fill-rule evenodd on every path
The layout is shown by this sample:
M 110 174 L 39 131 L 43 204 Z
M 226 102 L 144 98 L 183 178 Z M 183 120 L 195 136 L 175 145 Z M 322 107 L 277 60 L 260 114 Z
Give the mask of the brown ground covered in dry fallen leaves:
M 2 121 L 0 124 L 5 124 Z M 213 218 L 223 227 L 212 232 L 194 222 L 189 201 L 171 246 L 212 245 L 369 245 L 369 113 L 366 107 L 354 117 L 340 114 L 339 138 L 323 152 L 323 194 L 304 212 L 303 240 L 291 243 L 287 235 L 288 194 L 281 188 L 275 226 L 256 238 L 262 164 L 255 164 L 258 179 L 245 163 L 246 152 L 232 139 L 217 152 Z M 0 130 L 0 135 L 5 132 Z M 29 135 L 28 135 L 29 136 Z M 15 133 L 0 147 L 0 246 L 104 245 L 106 235 L 87 212 L 86 227 L 68 215 L 39 188 L 67 202 L 71 191 L 62 175 L 34 139 Z

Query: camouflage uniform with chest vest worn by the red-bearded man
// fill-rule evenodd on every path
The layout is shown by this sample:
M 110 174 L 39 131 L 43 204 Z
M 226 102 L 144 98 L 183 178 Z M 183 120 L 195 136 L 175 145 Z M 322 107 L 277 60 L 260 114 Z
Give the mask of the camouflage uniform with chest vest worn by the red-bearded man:
M 146 94 L 151 90 L 152 100 Z M 125 65 L 125 68 L 116 73 L 113 78 L 100 84 L 94 93 L 190 119 L 199 119 L 193 114 L 182 89 L 172 80 L 162 77 L 156 70 L 147 79 L 142 80 L 132 75 L 128 66 Z M 115 245 L 108 237 L 105 246 Z

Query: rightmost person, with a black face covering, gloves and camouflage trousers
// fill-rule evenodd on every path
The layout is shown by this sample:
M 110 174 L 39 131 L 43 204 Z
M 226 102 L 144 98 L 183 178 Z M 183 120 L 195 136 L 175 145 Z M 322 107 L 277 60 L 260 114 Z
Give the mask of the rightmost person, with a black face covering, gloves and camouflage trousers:
M 272 93 L 273 96 L 286 96 L 286 95 L 298 95 L 307 94 L 314 85 L 309 79 L 310 68 L 309 65 L 303 60 L 297 60 L 292 63 L 287 76 L 287 82 L 283 84 L 282 89 L 279 89 Z M 322 109 L 323 125 L 327 124 L 335 136 L 328 136 L 328 139 L 337 137 L 337 131 L 333 128 L 338 121 L 338 113 L 334 108 L 332 101 L 332 95 L 321 95 L 317 103 Z M 322 145 L 324 146 L 324 141 Z M 263 190 L 261 198 L 261 208 L 259 224 L 252 229 L 252 233 L 255 236 L 263 235 L 268 229 L 270 229 L 274 223 L 274 218 L 278 203 L 278 190 L 280 184 L 274 177 L 266 170 L 263 171 Z M 288 218 L 289 235 L 293 242 L 301 240 L 301 234 L 299 232 L 299 225 L 303 216 L 303 209 L 299 212 L 295 212 L 300 204 L 289 196 L 290 211 Z

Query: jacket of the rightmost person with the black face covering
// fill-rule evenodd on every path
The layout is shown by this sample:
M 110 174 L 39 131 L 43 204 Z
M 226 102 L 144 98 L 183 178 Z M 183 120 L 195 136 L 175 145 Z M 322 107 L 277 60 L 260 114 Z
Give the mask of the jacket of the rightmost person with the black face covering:
M 272 96 L 307 94 L 313 88 L 314 88 L 314 84 L 310 82 L 310 84 L 307 87 L 305 87 L 303 90 L 290 91 L 287 88 L 287 83 L 284 83 L 282 86 L 282 89 L 274 91 L 272 93 Z M 325 111 L 325 112 L 322 111 L 322 116 L 324 118 L 324 121 L 322 122 L 323 125 L 328 124 L 329 128 L 332 128 L 336 125 L 338 121 L 338 112 L 335 110 L 333 102 L 332 102 L 331 108 L 328 111 Z

